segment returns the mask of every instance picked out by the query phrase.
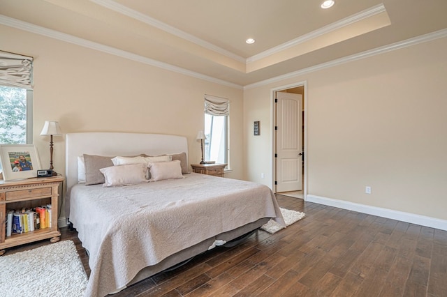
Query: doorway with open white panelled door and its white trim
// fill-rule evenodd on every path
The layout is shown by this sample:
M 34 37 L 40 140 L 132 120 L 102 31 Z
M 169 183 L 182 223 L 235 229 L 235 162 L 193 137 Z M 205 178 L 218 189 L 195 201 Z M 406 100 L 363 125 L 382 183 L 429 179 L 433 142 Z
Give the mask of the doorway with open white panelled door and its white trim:
M 274 192 L 305 199 L 307 193 L 306 82 L 272 90 Z

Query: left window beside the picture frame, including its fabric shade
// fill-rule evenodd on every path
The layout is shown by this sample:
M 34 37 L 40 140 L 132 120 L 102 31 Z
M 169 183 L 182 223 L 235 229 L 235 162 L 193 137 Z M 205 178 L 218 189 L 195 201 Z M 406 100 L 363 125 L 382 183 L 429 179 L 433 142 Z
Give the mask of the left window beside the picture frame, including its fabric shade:
M 32 143 L 32 73 L 29 56 L 0 51 L 0 144 Z

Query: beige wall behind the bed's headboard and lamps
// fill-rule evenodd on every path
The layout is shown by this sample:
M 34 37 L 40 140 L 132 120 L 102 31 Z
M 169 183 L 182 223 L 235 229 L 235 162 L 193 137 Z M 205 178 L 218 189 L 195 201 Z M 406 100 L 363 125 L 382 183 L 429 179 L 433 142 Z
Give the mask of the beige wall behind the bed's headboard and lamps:
M 186 136 L 189 162 L 200 162 L 205 93 L 229 98 L 230 178 L 243 178 L 242 89 L 180 75 L 118 56 L 0 26 L 0 50 L 34 56 L 34 144 L 43 168 L 45 120 L 67 132 L 149 132 Z M 94 145 L 94 144 L 92 144 Z M 54 137 L 54 169 L 65 172 L 64 138 Z M 64 209 L 64 208 L 62 208 Z M 64 215 L 64 213 L 62 213 Z

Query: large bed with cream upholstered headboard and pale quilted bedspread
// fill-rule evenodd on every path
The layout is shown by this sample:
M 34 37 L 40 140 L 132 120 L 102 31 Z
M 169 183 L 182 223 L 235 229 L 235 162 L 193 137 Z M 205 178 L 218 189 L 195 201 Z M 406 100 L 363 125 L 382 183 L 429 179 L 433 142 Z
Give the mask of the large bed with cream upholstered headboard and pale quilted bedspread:
M 228 245 L 270 218 L 285 226 L 270 188 L 187 173 L 187 154 L 188 144 L 182 136 L 123 132 L 66 135 L 66 217 L 89 252 L 91 275 L 86 296 L 120 291 L 197 254 Z M 166 162 L 152 159 L 166 155 L 179 158 Z M 82 174 L 92 180 L 91 160 L 109 162 L 116 156 L 122 157 L 119 160 L 152 160 L 151 181 L 103 185 L 121 181 L 108 170 L 138 169 L 140 174 L 139 165 L 106 167 L 102 183 L 82 180 Z M 173 166 L 175 178 L 163 176 L 166 168 Z M 124 179 L 132 175 L 127 172 Z

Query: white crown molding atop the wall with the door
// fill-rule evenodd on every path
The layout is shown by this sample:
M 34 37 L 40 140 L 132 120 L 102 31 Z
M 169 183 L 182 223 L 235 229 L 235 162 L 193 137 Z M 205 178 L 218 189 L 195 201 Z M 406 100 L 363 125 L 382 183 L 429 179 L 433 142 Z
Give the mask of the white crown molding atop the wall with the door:
M 255 82 L 254 84 L 247 84 L 244 86 L 244 90 L 254 89 L 259 86 L 265 86 L 267 84 L 272 84 L 274 82 L 280 82 L 284 79 L 289 79 L 293 77 L 298 77 L 300 75 L 305 75 L 307 73 L 312 73 L 314 71 L 322 70 L 325 68 L 331 68 L 334 66 L 342 65 L 344 63 L 349 63 L 351 61 L 356 61 L 360 59 L 368 58 L 369 56 L 376 56 L 377 54 L 383 54 L 386 52 L 391 52 L 393 50 L 399 50 L 404 47 L 410 47 L 412 45 L 418 45 L 419 43 L 427 43 L 429 41 L 445 38 L 447 37 L 447 29 L 441 29 L 439 31 L 434 31 L 432 33 L 427 33 L 421 36 L 417 36 L 414 38 L 409 38 L 406 40 L 402 40 L 397 43 L 391 43 L 390 45 L 384 45 L 383 47 L 377 47 L 373 50 L 367 50 L 365 52 L 360 52 L 358 54 L 352 54 L 351 56 L 345 56 L 340 59 L 335 59 L 326 63 L 321 63 L 316 66 L 311 66 L 308 68 L 304 68 L 301 70 L 293 71 L 291 73 L 287 73 L 285 75 L 279 75 L 277 77 L 272 77 L 270 79 L 262 80 L 261 82 Z

